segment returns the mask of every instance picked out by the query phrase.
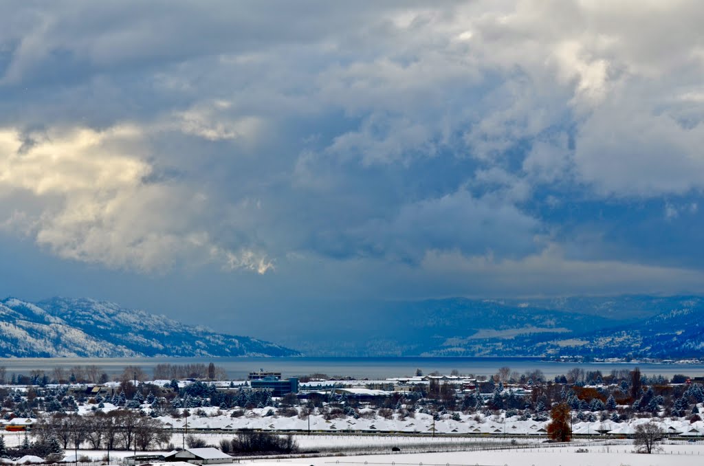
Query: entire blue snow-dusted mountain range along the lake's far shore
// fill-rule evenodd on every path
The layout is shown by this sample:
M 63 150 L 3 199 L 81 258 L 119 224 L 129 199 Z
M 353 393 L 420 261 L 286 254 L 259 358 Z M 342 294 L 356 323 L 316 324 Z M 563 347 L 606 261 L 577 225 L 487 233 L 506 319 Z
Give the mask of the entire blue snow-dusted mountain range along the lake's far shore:
M 704 357 L 700 296 L 446 298 L 334 309 L 326 320 L 295 315 L 287 332 L 271 338 L 298 351 L 115 303 L 6 298 L 0 357 Z

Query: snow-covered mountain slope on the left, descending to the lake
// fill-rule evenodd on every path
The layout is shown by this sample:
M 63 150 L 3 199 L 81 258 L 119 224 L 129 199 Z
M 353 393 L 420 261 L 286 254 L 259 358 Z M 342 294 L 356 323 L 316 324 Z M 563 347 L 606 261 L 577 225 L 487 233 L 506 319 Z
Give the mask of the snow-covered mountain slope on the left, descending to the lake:
M 295 356 L 269 341 L 218 334 L 92 299 L 0 301 L 0 357 Z

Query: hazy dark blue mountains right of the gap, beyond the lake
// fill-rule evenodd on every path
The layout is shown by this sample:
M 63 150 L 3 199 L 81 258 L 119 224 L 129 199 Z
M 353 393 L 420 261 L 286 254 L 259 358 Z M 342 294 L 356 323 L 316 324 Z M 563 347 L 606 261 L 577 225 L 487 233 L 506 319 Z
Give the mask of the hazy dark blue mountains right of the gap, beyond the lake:
M 279 339 L 321 356 L 704 357 L 704 298 L 447 298 L 370 303 L 325 332 Z

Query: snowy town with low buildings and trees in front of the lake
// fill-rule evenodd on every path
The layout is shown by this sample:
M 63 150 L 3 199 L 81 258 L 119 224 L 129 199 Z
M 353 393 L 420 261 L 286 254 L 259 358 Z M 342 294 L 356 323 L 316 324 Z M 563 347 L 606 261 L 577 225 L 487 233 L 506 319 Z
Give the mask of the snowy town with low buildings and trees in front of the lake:
M 331 435 L 363 435 L 351 450 L 357 453 L 384 453 L 390 444 L 378 439 L 390 436 L 399 451 L 399 442 L 404 451 L 461 451 L 532 446 L 551 437 L 637 446 L 646 424 L 657 428 L 658 441 L 704 439 L 704 377 L 666 378 L 637 368 L 602 374 L 574 367 L 552 379 L 510 367 L 496 374 L 417 370 L 379 380 L 260 369 L 230 380 L 210 363 L 158 365 L 151 377 L 128 366 L 114 380 L 96 366 L 11 377 L 0 369 L 0 376 L 0 456 L 19 462 L 141 464 L 206 455 L 195 458 L 206 464 L 344 450 L 308 440 Z M 551 434 L 556 406 L 566 407 L 569 423 L 569 433 L 557 439 Z

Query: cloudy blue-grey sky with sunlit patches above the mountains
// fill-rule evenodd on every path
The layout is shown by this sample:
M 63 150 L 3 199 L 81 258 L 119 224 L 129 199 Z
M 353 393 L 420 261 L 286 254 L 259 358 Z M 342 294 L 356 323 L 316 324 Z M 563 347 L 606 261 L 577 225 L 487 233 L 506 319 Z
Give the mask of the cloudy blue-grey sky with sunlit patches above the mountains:
M 368 302 L 703 293 L 702 24 L 698 0 L 3 1 L 0 295 L 264 337 Z

